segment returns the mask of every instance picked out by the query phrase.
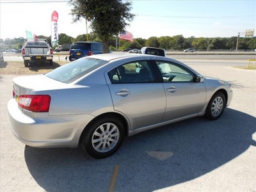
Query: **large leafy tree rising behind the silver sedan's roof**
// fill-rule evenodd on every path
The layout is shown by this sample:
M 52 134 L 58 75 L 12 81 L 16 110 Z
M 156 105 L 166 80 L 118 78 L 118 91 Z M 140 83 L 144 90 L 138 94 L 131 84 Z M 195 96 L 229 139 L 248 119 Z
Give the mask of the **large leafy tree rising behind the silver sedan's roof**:
M 124 31 L 134 18 L 131 2 L 122 0 L 70 0 L 74 22 L 84 18 L 90 22 L 93 33 L 102 40 L 103 52 L 109 52 L 109 38 Z

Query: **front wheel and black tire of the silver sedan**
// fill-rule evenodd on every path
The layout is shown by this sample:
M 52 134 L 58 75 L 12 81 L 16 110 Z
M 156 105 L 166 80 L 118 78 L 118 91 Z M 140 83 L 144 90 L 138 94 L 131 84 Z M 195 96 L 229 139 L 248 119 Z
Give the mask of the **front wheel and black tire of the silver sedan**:
M 226 108 L 226 98 L 223 93 L 216 92 L 205 111 L 205 118 L 209 120 L 217 120 L 223 114 L 224 109 Z

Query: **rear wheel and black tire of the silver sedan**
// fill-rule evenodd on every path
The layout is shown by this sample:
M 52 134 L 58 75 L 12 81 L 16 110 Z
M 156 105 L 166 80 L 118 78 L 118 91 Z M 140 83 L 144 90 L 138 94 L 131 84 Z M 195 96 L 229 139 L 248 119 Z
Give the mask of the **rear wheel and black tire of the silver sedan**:
M 104 116 L 86 127 L 81 147 L 94 158 L 109 157 L 122 145 L 124 134 L 124 125 L 116 116 Z

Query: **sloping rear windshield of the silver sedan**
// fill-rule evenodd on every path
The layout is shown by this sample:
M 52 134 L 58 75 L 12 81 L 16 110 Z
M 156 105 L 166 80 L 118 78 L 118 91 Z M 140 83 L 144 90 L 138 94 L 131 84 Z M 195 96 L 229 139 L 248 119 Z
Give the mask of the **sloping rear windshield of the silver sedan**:
M 96 68 L 108 63 L 106 60 L 98 60 L 95 58 L 81 58 L 79 60 L 73 61 L 59 68 L 52 70 L 51 72 L 45 74 L 45 76 L 54 79 L 56 81 L 61 81 L 63 83 L 72 83 L 80 77 L 92 72 Z

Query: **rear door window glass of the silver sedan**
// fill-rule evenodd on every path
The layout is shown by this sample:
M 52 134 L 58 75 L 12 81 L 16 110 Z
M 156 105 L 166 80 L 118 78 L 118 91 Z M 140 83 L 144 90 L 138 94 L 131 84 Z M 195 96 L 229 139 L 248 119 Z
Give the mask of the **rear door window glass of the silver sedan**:
M 149 61 L 133 61 L 108 73 L 111 83 L 152 83 L 154 77 Z

